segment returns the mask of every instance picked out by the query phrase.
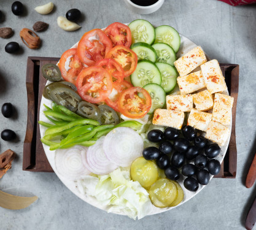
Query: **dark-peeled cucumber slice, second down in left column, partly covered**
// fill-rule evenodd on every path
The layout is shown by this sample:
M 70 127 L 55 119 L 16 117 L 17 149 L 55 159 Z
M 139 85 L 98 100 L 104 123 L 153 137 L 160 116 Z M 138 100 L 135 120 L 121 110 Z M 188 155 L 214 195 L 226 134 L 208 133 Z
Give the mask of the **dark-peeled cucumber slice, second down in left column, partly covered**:
M 155 52 L 151 45 L 145 42 L 136 42 L 131 45 L 130 49 L 136 53 L 138 60 L 147 59 L 153 63 L 157 61 L 157 52 Z

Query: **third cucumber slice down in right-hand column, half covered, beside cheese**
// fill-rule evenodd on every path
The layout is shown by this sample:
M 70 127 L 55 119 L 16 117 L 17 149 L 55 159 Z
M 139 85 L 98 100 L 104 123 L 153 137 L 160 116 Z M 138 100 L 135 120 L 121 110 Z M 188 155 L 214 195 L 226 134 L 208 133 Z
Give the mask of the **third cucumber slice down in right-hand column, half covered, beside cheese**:
M 161 72 L 161 86 L 165 90 L 165 93 L 173 91 L 177 84 L 177 71 L 176 69 L 166 63 L 155 63 Z

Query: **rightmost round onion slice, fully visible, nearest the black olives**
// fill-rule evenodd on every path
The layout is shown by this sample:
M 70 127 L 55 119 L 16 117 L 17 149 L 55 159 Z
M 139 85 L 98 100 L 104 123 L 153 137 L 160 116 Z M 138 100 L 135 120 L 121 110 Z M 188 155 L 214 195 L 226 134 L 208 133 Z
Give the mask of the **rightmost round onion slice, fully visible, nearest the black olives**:
M 133 129 L 118 127 L 107 134 L 103 149 L 112 163 L 128 167 L 134 159 L 142 155 L 143 140 Z

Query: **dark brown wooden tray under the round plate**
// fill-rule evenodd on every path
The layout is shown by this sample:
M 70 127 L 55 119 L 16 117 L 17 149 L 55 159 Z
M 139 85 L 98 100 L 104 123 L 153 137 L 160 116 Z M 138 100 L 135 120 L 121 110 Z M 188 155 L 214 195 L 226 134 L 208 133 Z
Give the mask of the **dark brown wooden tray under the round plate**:
M 28 57 L 26 70 L 26 88 L 28 93 L 28 121 L 26 137 L 23 147 L 23 170 L 32 172 L 53 172 L 45 156 L 44 148 L 40 141 L 39 109 L 42 98 L 42 91 L 46 80 L 42 77 L 41 67 L 46 63 L 57 63 L 60 58 Z M 232 110 L 232 132 L 230 144 L 222 163 L 221 171 L 215 177 L 235 178 L 236 177 L 236 102 L 238 98 L 239 66 L 237 64 L 220 64 L 223 75 L 226 79 L 228 91 L 235 98 Z

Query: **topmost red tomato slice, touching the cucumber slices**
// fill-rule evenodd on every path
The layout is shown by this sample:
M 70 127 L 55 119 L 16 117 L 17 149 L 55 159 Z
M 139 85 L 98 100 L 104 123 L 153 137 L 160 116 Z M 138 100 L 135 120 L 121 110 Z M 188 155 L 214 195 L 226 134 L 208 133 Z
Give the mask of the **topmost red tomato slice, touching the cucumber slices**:
M 115 45 L 124 45 L 125 47 L 130 48 L 131 46 L 131 29 L 120 22 L 114 22 L 111 25 L 107 26 L 105 29 L 107 37 L 109 37 L 114 46 Z

